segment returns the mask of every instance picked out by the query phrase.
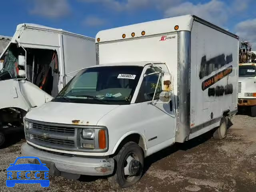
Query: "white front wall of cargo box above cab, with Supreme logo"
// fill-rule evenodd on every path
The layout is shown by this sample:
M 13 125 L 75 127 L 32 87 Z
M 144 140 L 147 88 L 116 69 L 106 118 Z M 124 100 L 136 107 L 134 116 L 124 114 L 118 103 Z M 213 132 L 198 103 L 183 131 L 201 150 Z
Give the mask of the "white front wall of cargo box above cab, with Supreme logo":
M 178 34 L 163 36 L 99 44 L 99 62 L 164 62 L 174 78 L 174 94 L 177 94 Z

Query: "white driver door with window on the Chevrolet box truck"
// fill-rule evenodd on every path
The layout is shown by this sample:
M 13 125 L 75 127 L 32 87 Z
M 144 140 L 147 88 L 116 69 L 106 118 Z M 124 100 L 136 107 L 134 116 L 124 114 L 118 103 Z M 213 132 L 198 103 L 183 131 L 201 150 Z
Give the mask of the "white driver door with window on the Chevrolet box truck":
M 156 66 L 168 72 L 165 64 L 157 64 Z M 155 66 L 146 66 L 143 74 L 151 74 L 159 71 L 161 70 Z M 142 125 L 144 126 L 148 155 L 170 146 L 174 142 L 174 131 L 176 129 L 174 122 L 175 109 L 172 102 L 167 104 L 152 102 L 156 88 L 157 91 L 154 101 L 160 101 L 159 94 L 162 92 L 161 78 L 156 87 L 159 75 L 159 73 L 156 73 L 143 78 L 136 100 L 136 102 L 140 102 L 142 105 Z M 171 99 L 174 100 L 172 96 Z

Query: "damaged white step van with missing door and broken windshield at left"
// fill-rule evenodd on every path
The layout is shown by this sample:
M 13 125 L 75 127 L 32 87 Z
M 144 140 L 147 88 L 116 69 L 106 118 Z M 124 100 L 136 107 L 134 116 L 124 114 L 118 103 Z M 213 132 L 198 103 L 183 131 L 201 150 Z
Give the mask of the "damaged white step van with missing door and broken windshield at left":
M 96 64 L 95 40 L 36 24 L 19 24 L 2 52 L 0 146 L 23 131 L 28 110 L 54 98 L 76 70 Z M 20 129 L 21 127 L 21 129 Z

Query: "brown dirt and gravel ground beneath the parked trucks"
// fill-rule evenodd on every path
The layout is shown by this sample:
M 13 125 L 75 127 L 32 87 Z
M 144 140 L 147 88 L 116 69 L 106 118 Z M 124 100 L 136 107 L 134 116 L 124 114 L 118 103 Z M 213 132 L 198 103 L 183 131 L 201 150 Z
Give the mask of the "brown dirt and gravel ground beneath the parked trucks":
M 144 175 L 130 188 L 117 189 L 106 178 L 82 176 L 79 180 L 50 177 L 50 187 L 16 184 L 6 187 L 10 163 L 20 156 L 24 140 L 0 149 L 0 191 L 170 191 L 256 192 L 256 118 L 236 115 L 224 140 L 205 134 L 185 144 L 175 144 L 145 160 Z

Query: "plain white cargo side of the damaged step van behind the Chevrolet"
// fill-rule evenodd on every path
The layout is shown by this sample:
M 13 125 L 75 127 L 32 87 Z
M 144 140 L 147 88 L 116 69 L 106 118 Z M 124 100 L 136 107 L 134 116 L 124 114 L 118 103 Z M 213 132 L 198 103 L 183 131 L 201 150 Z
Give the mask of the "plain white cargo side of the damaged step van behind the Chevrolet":
M 63 35 L 65 73 L 96 65 L 96 46 L 94 41 Z M 70 74 L 75 76 L 76 73 Z M 67 76 L 67 82 L 71 77 Z

